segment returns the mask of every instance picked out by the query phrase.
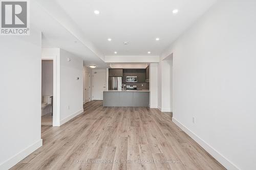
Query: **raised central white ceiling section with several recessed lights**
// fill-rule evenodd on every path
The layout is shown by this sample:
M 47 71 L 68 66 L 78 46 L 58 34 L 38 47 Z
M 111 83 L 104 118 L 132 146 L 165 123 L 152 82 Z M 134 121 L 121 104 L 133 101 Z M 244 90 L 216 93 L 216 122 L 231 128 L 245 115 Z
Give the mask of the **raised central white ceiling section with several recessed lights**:
M 216 0 L 55 0 L 105 55 L 160 55 Z M 174 9 L 179 13 L 173 14 Z M 94 10 L 100 14 L 95 15 Z M 112 38 L 109 42 L 107 39 Z M 161 40 L 156 41 L 156 37 Z M 123 45 L 129 41 L 129 45 Z

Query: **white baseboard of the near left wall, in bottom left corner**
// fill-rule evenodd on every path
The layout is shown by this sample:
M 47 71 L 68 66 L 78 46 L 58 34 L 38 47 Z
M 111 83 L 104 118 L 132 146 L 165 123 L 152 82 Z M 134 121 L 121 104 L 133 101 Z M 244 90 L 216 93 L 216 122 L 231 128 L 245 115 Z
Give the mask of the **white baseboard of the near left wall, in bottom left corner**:
M 23 151 L 20 151 L 16 155 L 12 156 L 9 158 L 7 161 L 3 162 L 0 165 L 0 169 L 9 169 L 15 164 L 17 164 L 19 161 L 23 160 L 26 158 L 29 154 L 37 150 L 42 146 L 42 139 L 39 139 L 35 143 L 31 144 L 28 148 L 24 149 Z

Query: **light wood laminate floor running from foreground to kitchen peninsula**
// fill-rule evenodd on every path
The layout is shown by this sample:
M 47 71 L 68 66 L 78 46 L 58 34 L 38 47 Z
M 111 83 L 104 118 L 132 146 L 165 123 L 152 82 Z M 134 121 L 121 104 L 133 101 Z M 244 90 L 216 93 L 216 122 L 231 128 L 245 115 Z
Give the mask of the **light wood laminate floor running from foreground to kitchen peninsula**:
M 225 169 L 158 109 L 86 104 L 12 169 Z M 137 161 L 136 161 L 137 160 Z

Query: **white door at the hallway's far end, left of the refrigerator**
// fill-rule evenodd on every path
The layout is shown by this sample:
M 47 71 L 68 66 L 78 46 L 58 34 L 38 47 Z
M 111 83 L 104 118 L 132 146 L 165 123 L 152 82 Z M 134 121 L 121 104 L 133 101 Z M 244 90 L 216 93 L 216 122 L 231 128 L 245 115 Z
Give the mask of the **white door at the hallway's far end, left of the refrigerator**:
M 93 71 L 93 100 L 103 100 L 106 90 L 106 70 Z

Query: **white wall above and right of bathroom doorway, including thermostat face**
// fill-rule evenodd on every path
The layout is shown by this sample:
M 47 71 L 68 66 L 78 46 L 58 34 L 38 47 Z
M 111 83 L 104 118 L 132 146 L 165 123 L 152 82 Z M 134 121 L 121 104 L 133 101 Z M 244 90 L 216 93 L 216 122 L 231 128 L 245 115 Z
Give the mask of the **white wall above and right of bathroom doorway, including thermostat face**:
M 83 61 L 80 57 L 60 48 L 42 49 L 42 58 L 56 60 L 56 97 L 54 98 L 56 104 L 53 105 L 56 106 L 56 123 L 54 126 L 60 126 L 83 111 Z M 68 61 L 68 58 L 71 61 Z M 77 77 L 79 80 L 76 80 Z

